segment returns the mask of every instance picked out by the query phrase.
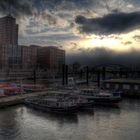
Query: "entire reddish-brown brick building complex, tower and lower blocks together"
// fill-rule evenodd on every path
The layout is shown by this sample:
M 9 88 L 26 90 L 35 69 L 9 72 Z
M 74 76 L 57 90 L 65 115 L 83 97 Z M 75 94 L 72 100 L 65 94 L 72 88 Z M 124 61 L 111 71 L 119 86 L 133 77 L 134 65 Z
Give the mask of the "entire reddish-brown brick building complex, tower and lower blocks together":
M 55 46 L 18 45 L 16 19 L 11 15 L 0 18 L 0 71 L 6 73 L 5 77 L 10 73 L 20 77 L 18 72 L 32 73 L 37 68 L 43 72 L 50 70 L 59 73 L 62 72 L 63 64 L 65 64 L 64 50 Z

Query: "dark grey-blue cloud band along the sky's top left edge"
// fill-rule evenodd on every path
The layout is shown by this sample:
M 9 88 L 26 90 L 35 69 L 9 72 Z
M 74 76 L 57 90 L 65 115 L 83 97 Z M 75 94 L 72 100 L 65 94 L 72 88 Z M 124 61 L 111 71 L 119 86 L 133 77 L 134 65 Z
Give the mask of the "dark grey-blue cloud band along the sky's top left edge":
M 50 12 L 57 10 L 87 9 L 96 0 L 0 0 L 0 12 L 14 16 L 39 15 L 44 10 Z

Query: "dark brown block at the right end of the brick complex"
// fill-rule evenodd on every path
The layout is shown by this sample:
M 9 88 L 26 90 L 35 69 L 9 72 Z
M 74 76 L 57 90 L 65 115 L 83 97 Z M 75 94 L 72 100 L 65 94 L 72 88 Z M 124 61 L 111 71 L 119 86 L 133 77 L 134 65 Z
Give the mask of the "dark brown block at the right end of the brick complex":
M 38 49 L 38 64 L 41 69 L 61 72 L 65 64 L 65 51 L 54 46 L 40 47 Z

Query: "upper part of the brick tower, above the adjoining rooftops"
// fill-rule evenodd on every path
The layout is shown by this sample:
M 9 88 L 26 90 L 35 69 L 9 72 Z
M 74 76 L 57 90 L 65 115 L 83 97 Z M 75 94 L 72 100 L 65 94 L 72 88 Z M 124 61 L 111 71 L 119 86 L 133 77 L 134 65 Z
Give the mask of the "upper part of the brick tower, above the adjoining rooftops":
M 0 18 L 0 45 L 18 44 L 18 24 L 11 15 Z

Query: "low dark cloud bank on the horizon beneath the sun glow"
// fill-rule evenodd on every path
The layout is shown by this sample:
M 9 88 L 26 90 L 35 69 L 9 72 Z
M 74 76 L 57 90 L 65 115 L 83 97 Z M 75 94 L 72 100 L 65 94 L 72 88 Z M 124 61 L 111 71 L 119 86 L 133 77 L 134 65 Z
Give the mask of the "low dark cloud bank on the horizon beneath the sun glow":
M 100 64 L 140 65 L 140 51 L 115 52 L 106 48 L 80 49 L 77 54 L 67 54 L 67 62 L 75 61 L 84 65 L 94 66 Z

